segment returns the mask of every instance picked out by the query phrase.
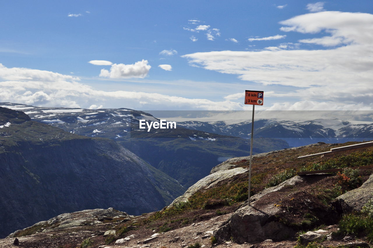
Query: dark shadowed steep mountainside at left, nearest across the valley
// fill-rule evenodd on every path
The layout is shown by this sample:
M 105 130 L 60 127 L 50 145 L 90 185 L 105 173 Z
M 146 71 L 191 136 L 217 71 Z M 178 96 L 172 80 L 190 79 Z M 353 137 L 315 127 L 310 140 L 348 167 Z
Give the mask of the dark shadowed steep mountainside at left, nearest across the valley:
M 183 191 L 111 140 L 67 133 L 0 108 L 0 236 L 84 209 L 155 211 Z

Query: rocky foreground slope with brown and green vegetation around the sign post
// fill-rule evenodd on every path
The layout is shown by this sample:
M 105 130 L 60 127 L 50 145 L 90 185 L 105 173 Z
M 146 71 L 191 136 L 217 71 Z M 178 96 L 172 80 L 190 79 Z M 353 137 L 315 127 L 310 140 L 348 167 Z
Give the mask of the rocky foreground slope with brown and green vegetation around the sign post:
M 338 199 L 344 199 L 344 203 L 360 211 L 364 202 L 369 201 L 369 198 L 366 198 L 367 192 L 373 192 L 373 169 L 360 170 L 355 176 L 351 174 L 350 179 L 344 174 L 348 173 L 348 170 L 345 170 L 341 175 L 290 176 L 287 180 L 284 177 L 282 183 L 278 182 L 273 187 L 266 186 L 272 179 L 283 175 L 284 169 L 300 170 L 303 167 L 334 164 L 345 167 L 347 164 L 355 165 L 361 161 L 365 165 L 373 164 L 373 148 L 346 152 L 329 159 L 296 160 L 299 155 L 344 145 L 348 144 L 319 143 L 257 155 L 253 172 L 260 176 L 253 176 L 252 183 L 258 192 L 252 197 L 251 205 L 245 201 L 247 188 L 241 184 L 247 181 L 247 157 L 235 158 L 214 168 L 210 176 L 201 179 L 187 190 L 182 201 L 174 202 L 162 211 L 133 218 L 123 214 L 122 218 L 111 217 L 111 220 L 104 222 L 92 217 L 91 211 L 87 211 L 89 216 L 73 213 L 72 216 L 88 218 L 89 221 L 86 225 L 81 225 L 78 218 L 73 222 L 79 226 L 66 227 L 62 232 L 57 228 L 62 224 L 57 222 L 60 218 L 52 218 L 38 223 L 33 230 L 22 230 L 0 240 L 0 247 L 12 247 L 16 237 L 22 247 L 39 248 L 57 247 L 57 244 L 60 247 L 100 248 L 269 248 L 296 245 L 297 248 L 305 248 L 309 243 L 309 247 L 369 247 L 368 242 L 373 241 L 364 236 L 364 232 L 348 233 L 343 221 L 354 217 L 356 221 L 351 223 L 353 227 L 358 223 L 358 218 L 361 220 L 370 217 L 354 213 L 348 215 L 351 210 L 342 208 L 344 204 Z M 277 173 L 274 172 L 276 170 Z M 363 182 L 365 183 L 361 186 Z M 342 191 L 336 186 L 341 186 Z M 351 190 L 354 187 L 357 189 Z M 241 188 L 244 198 L 235 198 Z M 345 191 L 347 193 L 344 193 Z M 338 195 L 341 196 L 335 200 Z M 339 209 L 342 212 L 339 212 Z M 103 220 L 102 217 L 100 219 Z M 55 220 L 55 226 L 47 225 Z M 47 230 L 43 231 L 42 228 Z M 366 226 L 365 229 L 369 228 Z

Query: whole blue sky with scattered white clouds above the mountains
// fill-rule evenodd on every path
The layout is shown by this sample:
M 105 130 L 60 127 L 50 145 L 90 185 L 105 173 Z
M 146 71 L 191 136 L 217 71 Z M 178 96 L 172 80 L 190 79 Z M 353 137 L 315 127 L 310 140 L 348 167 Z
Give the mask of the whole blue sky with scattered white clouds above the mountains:
M 3 1 L 0 102 L 372 110 L 370 0 Z

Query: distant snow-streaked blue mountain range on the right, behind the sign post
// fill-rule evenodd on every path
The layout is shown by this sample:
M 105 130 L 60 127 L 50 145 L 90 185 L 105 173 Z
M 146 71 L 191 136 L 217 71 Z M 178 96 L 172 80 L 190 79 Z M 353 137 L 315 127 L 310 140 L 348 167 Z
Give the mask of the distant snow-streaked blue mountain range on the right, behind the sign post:
M 250 137 L 251 132 L 251 121 L 182 121 L 178 125 L 242 138 Z M 282 139 L 294 147 L 317 142 L 362 141 L 373 138 L 373 123 L 339 119 L 258 119 L 254 121 L 254 137 Z

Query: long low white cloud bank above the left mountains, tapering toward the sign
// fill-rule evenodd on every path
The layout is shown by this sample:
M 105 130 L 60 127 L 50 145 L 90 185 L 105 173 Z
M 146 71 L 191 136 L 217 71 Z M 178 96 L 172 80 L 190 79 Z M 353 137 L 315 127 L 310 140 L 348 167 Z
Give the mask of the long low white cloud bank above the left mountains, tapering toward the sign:
M 224 101 L 212 101 L 200 98 L 185 98 L 170 96 L 156 92 L 132 92 L 132 91 L 104 91 L 95 90 L 92 87 L 78 83 L 68 75 L 55 72 L 31 70 L 26 68 L 6 68 L 0 65 L 0 79 L 12 78 L 27 80 L 0 81 L 0 102 L 25 103 L 35 106 L 71 107 L 71 108 L 106 108 L 125 106 L 132 109 L 160 109 L 160 110 L 235 110 L 243 109 L 242 103 Z M 30 70 L 32 73 L 30 73 Z M 49 75 L 42 77 L 40 75 Z M 40 80 L 44 78 L 44 80 Z M 45 80 L 48 79 L 48 80 Z

